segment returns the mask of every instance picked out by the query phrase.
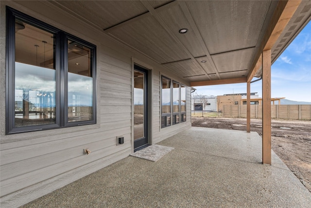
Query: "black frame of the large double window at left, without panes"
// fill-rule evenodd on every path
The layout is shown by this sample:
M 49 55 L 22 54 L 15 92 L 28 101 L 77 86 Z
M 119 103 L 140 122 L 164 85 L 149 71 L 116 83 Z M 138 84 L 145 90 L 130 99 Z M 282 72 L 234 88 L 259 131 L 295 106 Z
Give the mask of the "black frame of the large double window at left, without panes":
M 15 127 L 15 20 L 20 19 L 55 36 L 55 123 Z M 93 78 L 92 119 L 87 121 L 68 122 L 68 63 L 67 39 L 74 39 L 91 50 L 91 77 Z M 96 124 L 96 46 L 59 30 L 41 20 L 6 6 L 6 77 L 5 77 L 5 134 L 34 132 L 64 127 Z M 66 114 L 67 113 L 67 114 Z

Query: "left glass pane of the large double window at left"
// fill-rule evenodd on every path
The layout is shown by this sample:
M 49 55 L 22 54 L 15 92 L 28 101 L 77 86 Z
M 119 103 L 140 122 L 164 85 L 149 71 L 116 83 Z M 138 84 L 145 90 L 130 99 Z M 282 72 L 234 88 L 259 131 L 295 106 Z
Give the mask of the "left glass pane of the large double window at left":
M 15 22 L 15 127 L 54 124 L 54 35 Z

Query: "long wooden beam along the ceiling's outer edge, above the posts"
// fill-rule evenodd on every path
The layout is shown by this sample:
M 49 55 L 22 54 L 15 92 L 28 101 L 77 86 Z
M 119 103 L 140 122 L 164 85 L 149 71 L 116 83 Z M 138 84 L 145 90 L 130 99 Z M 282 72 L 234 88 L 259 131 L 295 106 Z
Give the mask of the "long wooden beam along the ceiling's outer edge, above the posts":
M 272 49 L 273 45 L 276 43 L 277 38 L 279 38 L 284 28 L 288 24 L 289 20 L 293 17 L 300 3 L 301 0 L 278 1 L 276 5 L 276 10 L 273 13 L 272 19 L 268 25 L 268 28 L 257 50 L 254 61 L 251 65 L 251 70 L 247 75 L 247 80 L 252 80 L 252 78 L 256 75 L 259 70 L 258 68 L 256 68 L 256 65 L 259 61 L 259 57 L 261 56 L 262 51 Z M 257 70 L 257 72 L 253 73 L 254 70 Z

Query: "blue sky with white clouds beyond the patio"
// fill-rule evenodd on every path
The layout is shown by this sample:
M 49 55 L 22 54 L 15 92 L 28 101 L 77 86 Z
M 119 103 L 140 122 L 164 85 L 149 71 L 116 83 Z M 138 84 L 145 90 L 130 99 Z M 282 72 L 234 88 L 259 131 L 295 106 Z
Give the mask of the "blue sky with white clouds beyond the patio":
M 251 84 L 251 92 L 257 92 L 259 97 L 261 84 L 261 81 Z M 246 93 L 246 83 L 195 88 L 196 93 L 203 95 Z M 311 102 L 311 21 L 272 65 L 271 97 Z

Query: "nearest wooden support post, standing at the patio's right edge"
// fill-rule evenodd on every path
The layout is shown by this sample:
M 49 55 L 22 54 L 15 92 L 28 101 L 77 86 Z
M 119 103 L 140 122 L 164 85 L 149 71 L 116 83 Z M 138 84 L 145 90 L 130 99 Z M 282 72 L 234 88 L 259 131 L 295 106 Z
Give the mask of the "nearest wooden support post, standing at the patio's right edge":
M 262 52 L 262 163 L 271 165 L 271 50 Z

